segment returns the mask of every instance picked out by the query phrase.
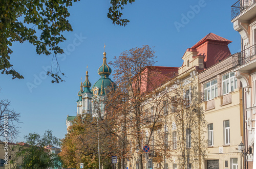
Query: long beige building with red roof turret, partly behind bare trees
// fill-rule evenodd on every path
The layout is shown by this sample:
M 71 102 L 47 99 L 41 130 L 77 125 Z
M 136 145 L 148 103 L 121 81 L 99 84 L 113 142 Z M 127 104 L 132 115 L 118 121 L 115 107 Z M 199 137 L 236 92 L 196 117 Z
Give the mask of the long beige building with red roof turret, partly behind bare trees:
M 176 95 L 173 92 L 162 100 L 161 119 L 155 123 L 151 138 L 147 137 L 153 148 L 149 153 L 153 168 L 241 166 L 242 88 L 232 71 L 229 43 L 210 33 L 185 51 L 183 65 L 178 68 Z M 148 109 L 154 114 L 154 109 Z M 150 128 L 152 121 L 148 120 L 145 135 Z M 163 144 L 168 152 L 161 150 Z M 146 168 L 145 158 L 143 164 Z M 127 166 L 137 168 L 136 160 L 130 159 Z

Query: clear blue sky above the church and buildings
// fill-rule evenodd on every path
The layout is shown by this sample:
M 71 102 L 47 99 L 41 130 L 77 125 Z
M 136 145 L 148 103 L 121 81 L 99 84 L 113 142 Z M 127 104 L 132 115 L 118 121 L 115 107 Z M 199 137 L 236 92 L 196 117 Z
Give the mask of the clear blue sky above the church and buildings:
M 28 43 L 11 47 L 11 63 L 25 79 L 12 80 L 10 75 L 0 74 L 0 99 L 11 101 L 11 108 L 20 112 L 23 122 L 19 140 L 48 129 L 58 138 L 65 137 L 66 118 L 76 115 L 77 93 L 87 65 L 92 85 L 100 78 L 97 70 L 102 65 L 104 43 L 107 62 L 133 47 L 154 46 L 156 66 L 180 67 L 186 49 L 209 33 L 231 40 L 231 53 L 239 52 L 240 35 L 230 22 L 231 6 L 236 2 L 136 0 L 123 11 L 123 18 L 130 20 L 125 27 L 112 24 L 106 16 L 109 0 L 74 3 L 69 8 L 74 31 L 64 34 L 67 41 L 61 46 L 66 53 L 58 55 L 61 71 L 67 76 L 63 77 L 65 82 L 51 83 L 52 78 L 45 76 L 51 57 L 37 55 Z

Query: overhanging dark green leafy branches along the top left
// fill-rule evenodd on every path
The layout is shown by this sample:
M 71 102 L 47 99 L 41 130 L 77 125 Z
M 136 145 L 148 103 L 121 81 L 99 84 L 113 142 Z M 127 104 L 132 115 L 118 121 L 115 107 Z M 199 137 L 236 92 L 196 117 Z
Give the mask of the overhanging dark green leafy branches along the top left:
M 63 53 L 59 43 L 66 40 L 62 32 L 73 31 L 67 19 L 70 16 L 68 7 L 80 0 L 5 0 L 0 1 L 0 71 L 10 74 L 12 78 L 24 78 L 10 63 L 13 42 L 25 41 L 36 46 L 37 54 L 50 55 Z M 127 3 L 135 0 L 111 0 L 108 17 L 114 24 L 125 26 L 129 20 L 122 19 L 121 10 Z M 63 81 L 64 75 L 57 63 L 56 71 L 49 71 L 54 80 Z

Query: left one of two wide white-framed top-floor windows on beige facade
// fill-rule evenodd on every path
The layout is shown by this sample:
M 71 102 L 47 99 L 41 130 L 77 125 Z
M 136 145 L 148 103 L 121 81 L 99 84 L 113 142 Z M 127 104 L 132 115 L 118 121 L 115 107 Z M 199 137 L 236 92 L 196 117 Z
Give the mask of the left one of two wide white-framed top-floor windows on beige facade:
M 211 80 L 203 85 L 204 101 L 211 100 L 218 96 L 217 79 Z

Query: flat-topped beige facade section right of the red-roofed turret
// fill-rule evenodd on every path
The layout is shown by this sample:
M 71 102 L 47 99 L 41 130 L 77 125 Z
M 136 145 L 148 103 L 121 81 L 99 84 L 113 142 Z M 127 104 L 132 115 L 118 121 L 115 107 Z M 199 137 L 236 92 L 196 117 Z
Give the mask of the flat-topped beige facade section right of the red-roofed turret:
M 207 121 L 205 168 L 240 168 L 243 140 L 242 88 L 232 56 L 199 74 L 201 107 Z

